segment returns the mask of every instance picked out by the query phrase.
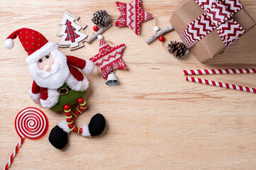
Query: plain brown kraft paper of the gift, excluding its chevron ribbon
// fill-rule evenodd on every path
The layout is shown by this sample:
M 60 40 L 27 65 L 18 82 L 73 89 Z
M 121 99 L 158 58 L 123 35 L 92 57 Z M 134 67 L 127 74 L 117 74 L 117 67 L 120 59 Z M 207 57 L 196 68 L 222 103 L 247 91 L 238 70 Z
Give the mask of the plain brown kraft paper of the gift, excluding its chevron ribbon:
M 209 0 L 211 1 L 211 0 Z M 189 25 L 196 18 L 204 13 L 204 9 L 196 4 L 194 0 L 184 0 L 174 10 L 170 23 L 177 33 L 182 33 L 182 30 Z M 255 21 L 247 13 L 245 8 L 241 8 L 240 11 L 233 15 L 233 19 L 242 26 L 247 33 L 251 28 L 255 26 Z M 243 40 L 243 39 L 242 39 Z M 206 62 L 211 60 L 216 55 L 221 54 L 226 50 L 223 40 L 218 35 L 217 29 L 214 29 L 211 33 L 199 40 L 194 46 L 189 49 L 199 62 Z

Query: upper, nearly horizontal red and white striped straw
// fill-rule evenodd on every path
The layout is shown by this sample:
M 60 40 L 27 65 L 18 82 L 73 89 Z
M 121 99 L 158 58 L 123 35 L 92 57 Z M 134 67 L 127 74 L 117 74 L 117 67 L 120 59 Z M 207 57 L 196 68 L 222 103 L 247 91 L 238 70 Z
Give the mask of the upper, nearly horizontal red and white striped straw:
M 256 69 L 187 69 L 184 75 L 256 73 Z

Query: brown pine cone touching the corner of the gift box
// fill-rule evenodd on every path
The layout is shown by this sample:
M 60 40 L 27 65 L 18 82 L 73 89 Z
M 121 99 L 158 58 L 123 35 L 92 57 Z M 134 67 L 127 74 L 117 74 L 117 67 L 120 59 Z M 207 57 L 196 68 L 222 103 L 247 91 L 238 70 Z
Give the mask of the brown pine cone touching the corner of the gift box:
M 170 44 L 168 44 L 167 47 L 169 53 L 173 53 L 175 58 L 182 57 L 186 53 L 186 46 L 184 45 L 183 42 L 176 42 L 176 41 L 171 41 Z

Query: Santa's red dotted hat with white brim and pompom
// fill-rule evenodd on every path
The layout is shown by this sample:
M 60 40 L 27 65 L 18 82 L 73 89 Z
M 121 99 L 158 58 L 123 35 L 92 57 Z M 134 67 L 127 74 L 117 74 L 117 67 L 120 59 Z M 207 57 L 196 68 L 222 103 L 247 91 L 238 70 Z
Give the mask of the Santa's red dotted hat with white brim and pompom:
M 51 50 L 57 49 L 54 42 L 49 42 L 41 33 L 29 28 L 21 28 L 11 33 L 4 42 L 5 47 L 11 49 L 14 45 L 13 39 L 17 37 L 28 53 L 28 57 L 26 57 L 28 64 L 37 62 L 40 58 L 48 55 Z

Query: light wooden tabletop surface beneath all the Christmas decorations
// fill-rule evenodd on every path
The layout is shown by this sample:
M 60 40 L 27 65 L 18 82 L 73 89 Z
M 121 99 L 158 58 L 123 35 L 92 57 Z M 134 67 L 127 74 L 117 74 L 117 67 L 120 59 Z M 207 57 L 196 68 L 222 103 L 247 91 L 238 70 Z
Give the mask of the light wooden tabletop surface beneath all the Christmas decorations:
M 174 8 L 182 0 L 143 0 L 143 8 L 158 19 L 158 26 L 169 25 Z M 130 3 L 130 0 L 123 0 Z M 256 19 L 256 1 L 241 0 Z M 28 106 L 42 109 L 49 129 L 40 140 L 26 139 L 11 169 L 255 169 L 256 96 L 243 91 L 223 89 L 185 81 L 183 69 L 255 67 L 256 28 L 237 45 L 211 62 L 201 64 L 193 54 L 180 60 L 166 50 L 170 40 L 179 40 L 175 31 L 146 45 L 154 33 L 154 20 L 143 23 L 141 35 L 130 28 L 112 26 L 104 33 L 113 45 L 126 43 L 123 60 L 128 70 L 118 70 L 118 86 L 106 86 L 100 76 L 89 75 L 86 96 L 89 109 L 79 116 L 77 125 L 89 123 L 92 115 L 102 113 L 107 122 L 104 135 L 86 138 L 71 133 L 69 145 L 57 150 L 50 142 L 50 130 L 65 118 L 30 100 L 33 79 L 25 62 L 26 52 L 18 39 L 7 50 L 4 40 L 18 28 L 33 28 L 48 40 L 56 36 L 64 9 L 87 23 L 95 10 L 106 9 L 112 23 L 119 16 L 114 0 L 86 1 L 0 1 L 0 166 L 4 168 L 19 137 L 14 128 L 16 114 Z M 99 50 L 99 41 L 66 55 L 88 59 Z M 256 87 L 255 74 L 201 76 L 243 86 Z

